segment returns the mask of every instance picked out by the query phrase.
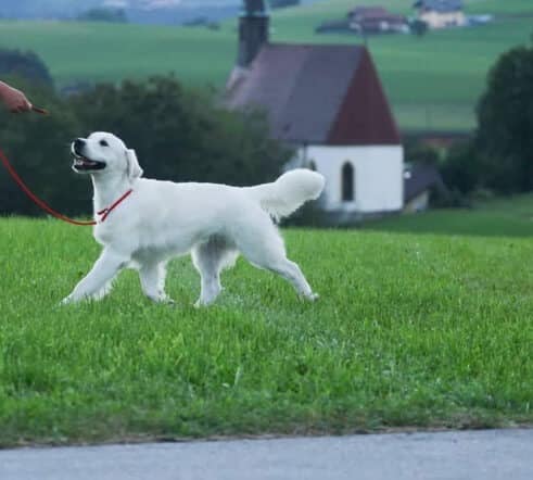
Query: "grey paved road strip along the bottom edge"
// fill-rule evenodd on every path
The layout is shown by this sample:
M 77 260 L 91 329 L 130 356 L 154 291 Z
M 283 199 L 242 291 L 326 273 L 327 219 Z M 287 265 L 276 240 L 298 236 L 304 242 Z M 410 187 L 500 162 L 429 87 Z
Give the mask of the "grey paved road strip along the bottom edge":
M 1 480 L 532 480 L 533 430 L 0 451 Z

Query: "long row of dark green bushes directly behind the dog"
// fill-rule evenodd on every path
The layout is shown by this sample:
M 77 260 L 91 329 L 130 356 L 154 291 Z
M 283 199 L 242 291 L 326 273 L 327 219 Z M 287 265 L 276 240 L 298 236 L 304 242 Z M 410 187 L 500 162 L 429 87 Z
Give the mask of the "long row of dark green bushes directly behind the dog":
M 49 89 L 23 89 L 51 115 L 0 112 L 5 125 L 0 146 L 31 189 L 68 214 L 91 210 L 90 182 L 71 172 L 69 143 L 94 130 L 123 138 L 137 151 L 145 176 L 175 181 L 271 181 L 292 156 L 270 139 L 261 114 L 228 112 L 173 77 L 100 85 L 67 99 Z M 5 174 L 0 176 L 0 213 L 37 213 Z

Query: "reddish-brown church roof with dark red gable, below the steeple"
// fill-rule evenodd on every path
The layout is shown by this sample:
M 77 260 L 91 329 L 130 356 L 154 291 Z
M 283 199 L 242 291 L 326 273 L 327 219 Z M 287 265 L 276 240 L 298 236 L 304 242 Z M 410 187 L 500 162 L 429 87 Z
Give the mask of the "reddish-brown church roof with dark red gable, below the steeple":
M 295 143 L 399 144 L 381 83 L 360 46 L 263 47 L 233 76 L 230 109 L 263 109 L 274 136 Z

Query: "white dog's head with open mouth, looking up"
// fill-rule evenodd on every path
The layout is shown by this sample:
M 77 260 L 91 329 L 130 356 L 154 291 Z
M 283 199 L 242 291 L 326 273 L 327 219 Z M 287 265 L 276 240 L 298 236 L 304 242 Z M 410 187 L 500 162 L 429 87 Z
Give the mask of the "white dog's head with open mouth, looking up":
M 128 149 L 113 134 L 96 131 L 77 138 L 71 144 L 73 169 L 78 174 L 127 175 L 130 180 L 142 176 L 135 150 Z

